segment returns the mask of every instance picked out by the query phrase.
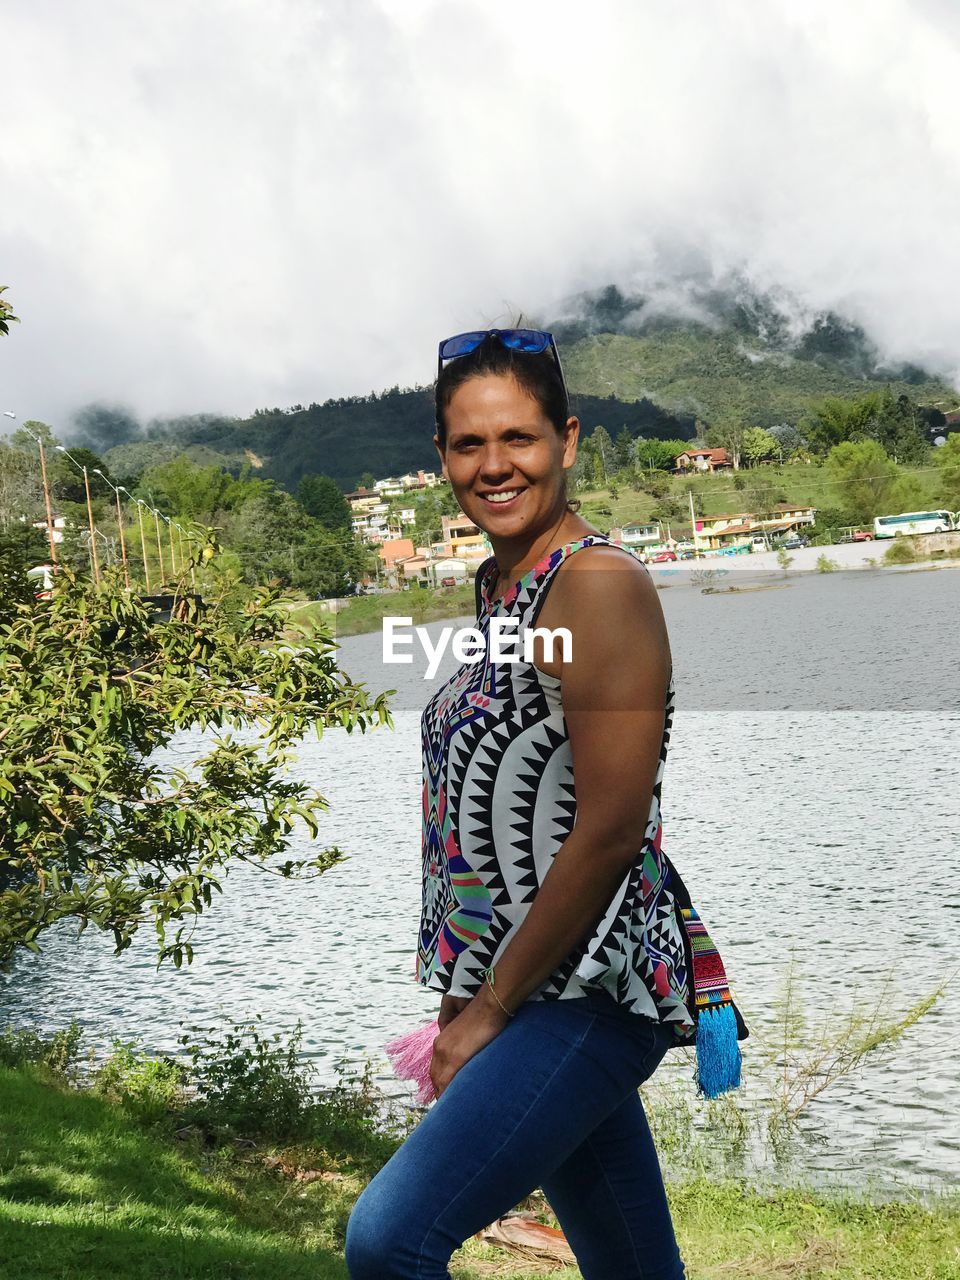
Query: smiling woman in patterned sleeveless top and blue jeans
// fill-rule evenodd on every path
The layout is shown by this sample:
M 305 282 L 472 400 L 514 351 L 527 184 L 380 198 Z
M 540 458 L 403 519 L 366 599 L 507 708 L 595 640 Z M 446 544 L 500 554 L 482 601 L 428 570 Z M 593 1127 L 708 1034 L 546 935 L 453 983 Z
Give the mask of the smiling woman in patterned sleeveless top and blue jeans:
M 434 443 L 494 549 L 477 626 L 563 627 L 570 645 L 493 662 L 488 644 L 424 713 L 417 977 L 443 992 L 438 1101 L 357 1202 L 353 1280 L 448 1276 L 536 1187 L 588 1280 L 685 1275 L 637 1096 L 703 1020 L 659 847 L 671 653 L 648 571 L 567 503 L 579 430 L 549 334 L 440 344 Z M 739 1051 L 718 973 L 696 1002 L 723 1023 L 723 1088 Z

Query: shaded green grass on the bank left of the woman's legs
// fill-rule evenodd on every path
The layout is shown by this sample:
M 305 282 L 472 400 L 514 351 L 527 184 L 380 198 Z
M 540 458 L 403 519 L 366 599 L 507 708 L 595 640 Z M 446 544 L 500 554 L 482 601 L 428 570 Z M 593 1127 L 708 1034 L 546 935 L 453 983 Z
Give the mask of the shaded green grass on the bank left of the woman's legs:
M 0 1068 L 4 1280 L 340 1280 L 346 1207 L 316 1185 L 323 1210 L 279 1213 L 279 1178 L 191 1158 L 102 1098 Z

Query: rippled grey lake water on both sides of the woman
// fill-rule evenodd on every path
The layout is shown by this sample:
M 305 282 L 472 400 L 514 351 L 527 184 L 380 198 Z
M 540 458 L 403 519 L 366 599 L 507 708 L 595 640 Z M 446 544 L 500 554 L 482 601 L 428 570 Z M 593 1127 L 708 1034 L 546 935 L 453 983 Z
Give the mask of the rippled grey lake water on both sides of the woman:
M 663 786 L 664 849 L 727 961 L 759 1039 L 791 956 L 812 1028 L 895 1010 L 960 966 L 960 571 L 791 575 L 782 589 L 703 595 L 658 577 L 677 712 Z M 742 585 L 737 575 L 727 581 Z M 435 634 L 439 625 L 431 626 Z M 0 979 L 4 1020 L 87 1042 L 175 1048 L 182 1021 L 302 1019 L 321 1080 L 436 1007 L 412 980 L 419 914 L 419 708 L 433 685 L 380 662 L 380 636 L 342 663 L 396 687 L 396 730 L 332 732 L 298 771 L 332 803 L 324 837 L 349 859 L 297 884 L 239 870 L 202 919 L 196 960 L 157 973 L 148 937 L 123 956 L 90 933 L 50 937 Z M 444 667 L 438 678 L 448 672 Z M 197 740 L 177 745 L 183 762 Z M 813 1034 L 813 1033 L 810 1033 Z M 682 1055 L 669 1071 L 689 1075 Z M 809 1111 L 809 1176 L 960 1184 L 957 982 L 892 1052 Z

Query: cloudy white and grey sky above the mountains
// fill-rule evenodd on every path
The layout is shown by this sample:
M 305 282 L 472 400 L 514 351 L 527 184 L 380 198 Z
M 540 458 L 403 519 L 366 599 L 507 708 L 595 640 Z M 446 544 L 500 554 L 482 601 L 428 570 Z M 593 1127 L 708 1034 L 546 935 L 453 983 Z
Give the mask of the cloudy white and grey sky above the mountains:
M 0 408 L 246 413 L 741 271 L 960 376 L 954 0 L 4 0 Z

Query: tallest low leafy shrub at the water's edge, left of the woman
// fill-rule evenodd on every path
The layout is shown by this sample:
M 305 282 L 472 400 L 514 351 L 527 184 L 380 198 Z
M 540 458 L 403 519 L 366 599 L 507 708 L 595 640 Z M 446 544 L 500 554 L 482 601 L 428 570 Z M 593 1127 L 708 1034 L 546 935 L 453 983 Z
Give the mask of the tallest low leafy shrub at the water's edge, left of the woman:
M 182 1036 L 196 1098 L 186 1115 L 207 1128 L 284 1139 L 301 1129 L 312 1103 L 311 1076 L 301 1062 L 303 1025 L 284 1039 L 265 1036 L 261 1018 L 225 1029 L 189 1027 Z

